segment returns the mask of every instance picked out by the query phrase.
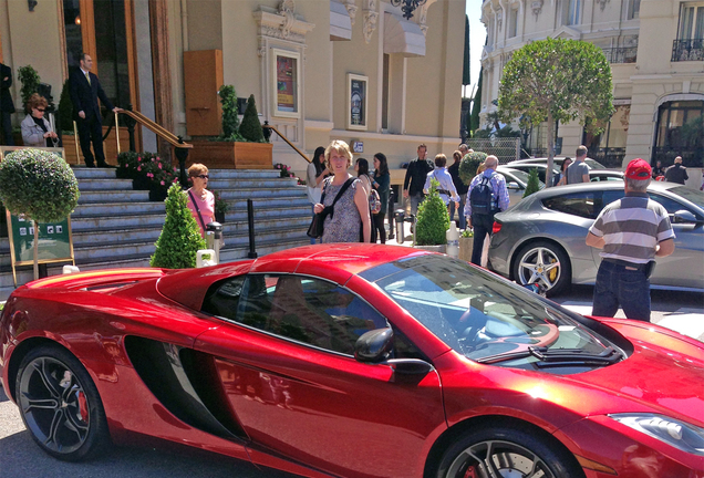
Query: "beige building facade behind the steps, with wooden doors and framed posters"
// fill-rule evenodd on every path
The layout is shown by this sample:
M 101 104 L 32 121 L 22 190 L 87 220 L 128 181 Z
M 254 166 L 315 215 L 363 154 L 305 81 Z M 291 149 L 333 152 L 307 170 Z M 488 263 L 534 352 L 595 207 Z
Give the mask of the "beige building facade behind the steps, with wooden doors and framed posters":
M 397 168 L 420 143 L 452 154 L 459 142 L 464 0 L 427 0 L 412 18 L 381 0 L 29 3 L 0 0 L 0 54 L 13 70 L 18 110 L 18 67 L 32 65 L 58 103 L 86 52 L 115 105 L 187 139 L 217 113 L 221 77 L 239 97 L 253 94 L 261 121 L 309 157 L 339 138 L 356 143 L 356 156 L 386 154 Z M 215 52 L 216 64 L 194 70 L 184 64 L 190 52 Z M 199 105 L 198 93 L 215 106 Z M 304 170 L 290 146 L 271 141 L 275 163 Z M 138 142 L 143 150 L 164 147 L 146 129 Z

